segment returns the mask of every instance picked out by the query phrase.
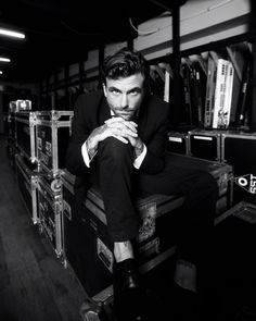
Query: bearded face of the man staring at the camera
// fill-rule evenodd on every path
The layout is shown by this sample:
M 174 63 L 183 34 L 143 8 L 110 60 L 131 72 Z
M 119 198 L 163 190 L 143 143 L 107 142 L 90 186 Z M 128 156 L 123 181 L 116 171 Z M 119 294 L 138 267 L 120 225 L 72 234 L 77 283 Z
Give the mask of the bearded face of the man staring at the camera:
M 143 82 L 144 77 L 140 73 L 126 78 L 106 78 L 104 95 L 116 116 L 126 121 L 135 118 L 144 96 Z

